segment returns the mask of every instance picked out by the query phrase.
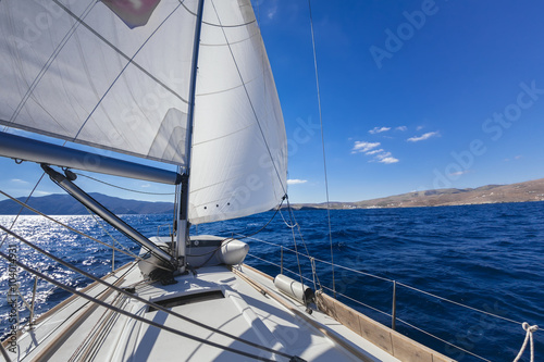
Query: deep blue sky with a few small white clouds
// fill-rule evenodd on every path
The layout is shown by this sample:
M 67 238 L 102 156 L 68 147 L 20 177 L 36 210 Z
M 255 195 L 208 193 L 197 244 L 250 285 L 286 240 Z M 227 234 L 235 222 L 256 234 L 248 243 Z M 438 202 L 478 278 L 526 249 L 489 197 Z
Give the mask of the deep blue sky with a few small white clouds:
M 544 177 L 542 1 L 311 3 L 331 200 Z M 256 0 L 254 7 L 289 140 L 289 198 L 324 201 L 308 2 Z M 2 159 L 0 167 L 1 188 L 17 197 L 39 177 L 36 164 Z M 79 185 L 124 198 L 171 198 L 88 179 Z M 37 195 L 59 189 L 42 182 Z

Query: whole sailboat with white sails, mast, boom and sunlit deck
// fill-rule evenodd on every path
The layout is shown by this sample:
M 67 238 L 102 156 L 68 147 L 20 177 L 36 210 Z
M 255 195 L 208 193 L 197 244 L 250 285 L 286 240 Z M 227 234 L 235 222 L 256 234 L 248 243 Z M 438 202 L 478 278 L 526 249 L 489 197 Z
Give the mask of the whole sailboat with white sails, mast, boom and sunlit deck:
M 452 361 L 321 290 L 244 264 L 242 240 L 189 235 L 287 195 L 285 126 L 249 0 L 2 0 L 0 32 L 0 124 L 10 129 L 0 154 L 39 164 L 141 246 L 97 278 L 1 226 L 95 280 L 75 290 L 1 252 L 73 294 L 14 330 L 5 360 Z M 71 170 L 175 185 L 174 232 L 145 237 Z

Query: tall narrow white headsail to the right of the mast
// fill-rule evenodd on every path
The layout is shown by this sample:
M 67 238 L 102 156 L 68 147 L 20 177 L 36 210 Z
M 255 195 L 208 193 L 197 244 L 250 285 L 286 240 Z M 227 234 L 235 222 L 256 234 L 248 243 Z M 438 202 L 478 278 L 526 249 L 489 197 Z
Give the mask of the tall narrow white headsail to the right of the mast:
M 190 170 L 194 224 L 270 210 L 286 194 L 287 141 L 249 0 L 205 1 Z

